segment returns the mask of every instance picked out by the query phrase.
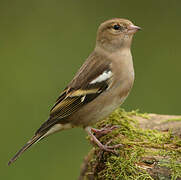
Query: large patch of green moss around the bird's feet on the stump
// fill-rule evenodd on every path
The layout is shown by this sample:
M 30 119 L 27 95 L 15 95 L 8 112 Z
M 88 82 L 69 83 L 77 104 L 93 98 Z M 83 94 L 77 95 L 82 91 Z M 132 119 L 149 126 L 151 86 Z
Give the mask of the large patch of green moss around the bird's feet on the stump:
M 147 114 L 138 111 L 117 109 L 107 119 L 96 124 L 99 129 L 108 124 L 117 125 L 117 129 L 101 137 L 100 141 L 103 144 L 111 141 L 110 145 L 121 143 L 123 146 L 117 150 L 118 155 L 105 152 L 100 156 L 100 150 L 96 148 L 90 162 L 90 167 L 94 169 L 89 170 L 94 171 L 97 179 L 151 180 L 153 178 L 139 164 L 149 166 L 154 163 L 153 159 L 143 160 L 145 157 L 167 156 L 169 160 L 158 163 L 158 166 L 169 168 L 172 180 L 181 177 L 181 164 L 178 163 L 181 157 L 180 138 L 173 137 L 170 131 L 143 130 L 139 128 L 135 116 L 149 119 Z

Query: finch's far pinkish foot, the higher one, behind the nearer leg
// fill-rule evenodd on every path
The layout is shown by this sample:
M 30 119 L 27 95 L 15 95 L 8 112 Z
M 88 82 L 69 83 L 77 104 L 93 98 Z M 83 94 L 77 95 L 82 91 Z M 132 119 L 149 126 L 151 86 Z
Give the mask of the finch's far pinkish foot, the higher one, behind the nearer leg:
M 114 129 L 118 128 L 119 126 L 112 126 L 112 125 L 106 125 L 104 128 L 102 129 L 95 129 L 95 128 L 91 128 L 91 131 L 93 133 L 95 133 L 96 137 L 99 138 L 109 132 L 112 132 Z

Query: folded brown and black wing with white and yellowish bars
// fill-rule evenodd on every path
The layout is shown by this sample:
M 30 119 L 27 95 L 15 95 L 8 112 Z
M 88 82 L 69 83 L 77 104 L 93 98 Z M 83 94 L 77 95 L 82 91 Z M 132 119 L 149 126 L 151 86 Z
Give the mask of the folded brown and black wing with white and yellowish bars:
M 74 79 L 61 93 L 50 111 L 50 118 L 36 133 L 50 129 L 56 123 L 66 123 L 66 117 L 93 101 L 110 85 L 110 60 L 93 53 L 83 64 Z

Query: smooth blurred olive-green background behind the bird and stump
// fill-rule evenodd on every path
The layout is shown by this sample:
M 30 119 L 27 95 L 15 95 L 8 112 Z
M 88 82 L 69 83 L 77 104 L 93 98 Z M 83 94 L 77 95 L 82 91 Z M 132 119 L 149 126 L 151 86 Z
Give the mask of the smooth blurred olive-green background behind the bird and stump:
M 123 107 L 181 114 L 180 8 L 180 0 L 1 0 L 0 179 L 77 179 L 90 149 L 82 129 L 52 135 L 7 162 L 47 119 L 104 20 L 124 17 L 143 28 L 134 38 L 136 80 Z

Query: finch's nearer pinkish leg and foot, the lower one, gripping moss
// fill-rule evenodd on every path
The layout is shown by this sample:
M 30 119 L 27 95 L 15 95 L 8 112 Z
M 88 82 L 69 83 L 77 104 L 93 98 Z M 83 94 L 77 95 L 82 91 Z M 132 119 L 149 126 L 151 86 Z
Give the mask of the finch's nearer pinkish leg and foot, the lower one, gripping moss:
M 89 134 L 89 136 L 92 138 L 92 141 L 94 143 L 96 143 L 99 146 L 99 148 L 102 149 L 103 151 L 108 151 L 108 152 L 112 152 L 112 153 L 116 154 L 116 151 L 114 149 L 119 148 L 120 146 L 122 146 L 122 144 L 116 144 L 116 145 L 113 145 L 113 146 L 103 145 L 97 139 L 97 137 L 92 133 L 92 128 L 91 127 L 86 127 L 85 130 Z

